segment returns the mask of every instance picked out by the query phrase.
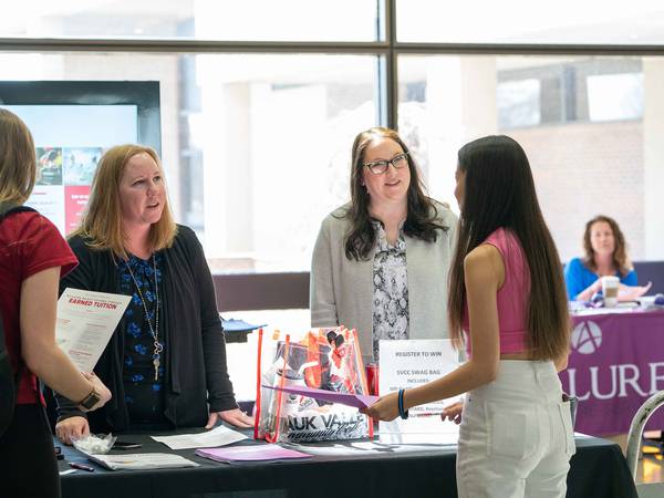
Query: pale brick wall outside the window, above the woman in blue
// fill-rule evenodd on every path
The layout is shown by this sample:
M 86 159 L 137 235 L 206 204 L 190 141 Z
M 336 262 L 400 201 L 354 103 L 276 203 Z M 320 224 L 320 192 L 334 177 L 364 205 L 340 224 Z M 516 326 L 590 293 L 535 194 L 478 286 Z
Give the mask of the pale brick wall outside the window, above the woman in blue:
M 616 219 L 643 259 L 643 125 L 640 121 L 512 129 L 530 159 L 539 200 L 563 261 L 582 253 L 585 222 Z

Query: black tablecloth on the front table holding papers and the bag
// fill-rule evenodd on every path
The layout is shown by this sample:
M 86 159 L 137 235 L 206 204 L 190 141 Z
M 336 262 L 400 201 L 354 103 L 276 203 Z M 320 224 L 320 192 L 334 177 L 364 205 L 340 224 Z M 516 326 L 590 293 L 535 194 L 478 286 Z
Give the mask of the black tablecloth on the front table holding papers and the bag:
M 249 433 L 247 433 L 249 434 Z M 124 436 L 139 442 L 143 452 L 170 452 L 148 436 Z M 253 440 L 240 444 L 259 444 Z M 324 446 L 324 445 L 323 445 Z M 568 476 L 568 497 L 636 498 L 634 483 L 618 445 L 577 438 Z M 385 452 L 366 456 L 314 456 L 309 460 L 219 464 L 172 452 L 200 464 L 197 468 L 108 471 L 73 448 L 65 458 L 84 461 L 94 473 L 62 476 L 63 498 L 325 498 L 325 497 L 456 497 L 456 447 L 430 446 L 408 454 Z M 69 468 L 64 461 L 61 469 Z

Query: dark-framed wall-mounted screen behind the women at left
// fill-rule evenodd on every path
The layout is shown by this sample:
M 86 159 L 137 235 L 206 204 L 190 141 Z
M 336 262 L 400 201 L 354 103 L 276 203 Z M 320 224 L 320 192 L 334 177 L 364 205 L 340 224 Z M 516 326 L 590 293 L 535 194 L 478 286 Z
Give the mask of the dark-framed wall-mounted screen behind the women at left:
M 159 152 L 158 100 L 155 82 L 0 83 L 0 107 L 21 117 L 34 138 L 37 181 L 25 204 L 63 235 L 74 230 L 107 148 L 141 143 Z

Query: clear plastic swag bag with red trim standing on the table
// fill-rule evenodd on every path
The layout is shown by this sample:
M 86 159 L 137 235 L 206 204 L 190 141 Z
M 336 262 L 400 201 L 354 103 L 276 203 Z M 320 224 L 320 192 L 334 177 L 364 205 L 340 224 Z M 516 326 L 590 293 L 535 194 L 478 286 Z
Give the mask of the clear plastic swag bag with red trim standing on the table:
M 357 408 L 274 391 L 293 385 L 369 394 L 357 334 L 344 328 L 308 332 L 300 341 L 259 331 L 255 437 L 304 443 L 373 437 Z

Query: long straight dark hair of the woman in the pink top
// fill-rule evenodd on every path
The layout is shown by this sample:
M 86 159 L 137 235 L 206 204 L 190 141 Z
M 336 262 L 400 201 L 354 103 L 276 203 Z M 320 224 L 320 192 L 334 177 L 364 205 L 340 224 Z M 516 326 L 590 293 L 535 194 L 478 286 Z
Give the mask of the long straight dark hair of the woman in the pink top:
M 568 351 L 570 317 L 562 267 L 542 216 L 528 157 L 512 138 L 487 136 L 464 145 L 465 173 L 459 237 L 449 279 L 450 335 L 461 343 L 466 302 L 464 259 L 498 228 L 519 240 L 530 269 L 528 345 L 533 360 L 556 360 Z

